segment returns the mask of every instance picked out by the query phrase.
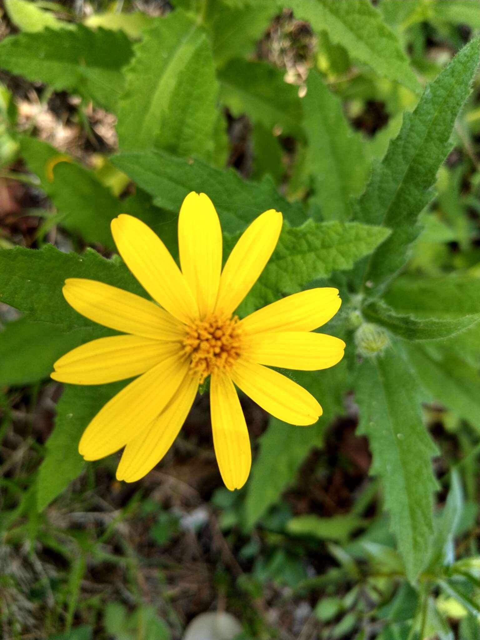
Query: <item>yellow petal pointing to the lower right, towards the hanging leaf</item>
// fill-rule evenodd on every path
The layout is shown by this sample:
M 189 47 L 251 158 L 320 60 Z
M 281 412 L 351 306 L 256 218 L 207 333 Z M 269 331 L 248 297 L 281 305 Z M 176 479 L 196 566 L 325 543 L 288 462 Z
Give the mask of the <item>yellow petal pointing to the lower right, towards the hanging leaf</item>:
M 306 389 L 273 369 L 237 360 L 231 378 L 254 402 L 279 420 L 290 424 L 313 424 L 322 408 Z

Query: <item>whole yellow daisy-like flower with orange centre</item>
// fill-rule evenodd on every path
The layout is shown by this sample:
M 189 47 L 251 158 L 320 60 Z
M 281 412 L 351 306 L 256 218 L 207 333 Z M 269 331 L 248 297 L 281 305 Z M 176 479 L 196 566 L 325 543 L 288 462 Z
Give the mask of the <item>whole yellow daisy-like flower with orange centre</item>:
M 179 216 L 180 271 L 143 222 L 123 214 L 112 221 L 118 252 L 154 302 L 94 280 L 65 281 L 63 295 L 77 312 L 128 335 L 73 349 L 54 364 L 52 378 L 100 385 L 139 376 L 85 429 L 79 444 L 85 460 L 125 447 L 116 477 L 133 482 L 145 476 L 177 437 L 207 376 L 216 458 L 230 490 L 243 486 L 252 462 L 234 385 L 280 420 L 317 421 L 322 409 L 316 399 L 268 366 L 315 370 L 341 360 L 342 340 L 312 333 L 339 310 L 338 290 L 308 289 L 243 320 L 232 315 L 262 273 L 281 228 L 280 212 L 262 213 L 222 270 L 218 215 L 208 196 L 189 193 Z

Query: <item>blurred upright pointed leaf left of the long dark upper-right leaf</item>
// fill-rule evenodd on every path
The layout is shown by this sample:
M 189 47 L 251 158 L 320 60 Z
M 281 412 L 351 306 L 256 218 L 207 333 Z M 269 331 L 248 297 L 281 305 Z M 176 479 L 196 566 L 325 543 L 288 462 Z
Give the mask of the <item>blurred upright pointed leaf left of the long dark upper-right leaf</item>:
M 370 165 L 360 136 L 345 118 L 342 103 L 314 69 L 308 74 L 303 118 L 307 170 L 314 179 L 322 216 L 326 220 L 348 220 L 350 198 L 364 188 Z

